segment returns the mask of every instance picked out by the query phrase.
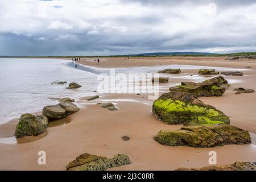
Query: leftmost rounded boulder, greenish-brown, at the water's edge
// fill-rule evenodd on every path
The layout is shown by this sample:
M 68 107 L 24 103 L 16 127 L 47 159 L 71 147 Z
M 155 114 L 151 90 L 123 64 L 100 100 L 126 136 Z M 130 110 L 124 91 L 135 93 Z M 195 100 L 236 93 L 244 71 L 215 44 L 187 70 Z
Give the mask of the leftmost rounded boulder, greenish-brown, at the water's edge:
M 44 115 L 22 114 L 16 125 L 15 137 L 37 136 L 42 134 L 48 126 L 48 119 Z

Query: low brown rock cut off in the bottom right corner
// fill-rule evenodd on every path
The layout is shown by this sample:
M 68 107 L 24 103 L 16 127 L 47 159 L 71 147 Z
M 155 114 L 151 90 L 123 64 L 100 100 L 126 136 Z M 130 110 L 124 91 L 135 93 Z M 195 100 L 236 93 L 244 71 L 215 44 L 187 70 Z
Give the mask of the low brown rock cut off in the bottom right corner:
M 216 164 L 202 168 L 177 168 L 175 171 L 256 171 L 256 162 L 235 162 L 234 164 Z

